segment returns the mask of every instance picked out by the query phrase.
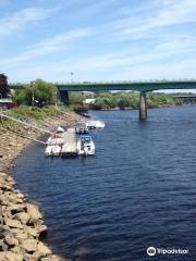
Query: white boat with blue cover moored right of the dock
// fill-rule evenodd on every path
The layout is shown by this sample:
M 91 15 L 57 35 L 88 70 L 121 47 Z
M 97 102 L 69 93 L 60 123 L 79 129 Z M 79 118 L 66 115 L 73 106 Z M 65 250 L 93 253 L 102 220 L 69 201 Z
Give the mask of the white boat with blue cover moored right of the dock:
M 89 135 L 83 135 L 77 140 L 77 154 L 94 156 L 95 144 Z

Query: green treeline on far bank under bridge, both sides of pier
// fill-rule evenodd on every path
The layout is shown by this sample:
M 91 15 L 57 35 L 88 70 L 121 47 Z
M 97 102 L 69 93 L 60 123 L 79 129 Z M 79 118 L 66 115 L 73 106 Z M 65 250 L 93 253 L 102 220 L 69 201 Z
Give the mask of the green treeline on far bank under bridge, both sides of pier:
M 96 101 L 90 104 L 94 110 L 110 110 L 119 108 L 124 110 L 126 108 L 137 109 L 139 102 L 139 94 L 133 91 L 120 92 L 101 92 L 96 95 Z M 181 104 L 182 101 L 167 94 L 147 92 L 148 108 L 175 105 Z

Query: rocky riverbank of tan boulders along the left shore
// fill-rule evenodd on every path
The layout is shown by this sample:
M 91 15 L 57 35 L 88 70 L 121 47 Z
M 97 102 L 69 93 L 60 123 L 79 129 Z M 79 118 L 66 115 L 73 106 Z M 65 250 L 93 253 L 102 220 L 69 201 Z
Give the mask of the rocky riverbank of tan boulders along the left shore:
M 7 112 L 4 112 L 7 113 Z M 47 116 L 44 121 L 30 119 L 36 125 L 54 127 L 78 121 L 79 116 L 72 112 L 63 112 L 57 117 Z M 14 130 L 14 133 L 12 132 Z M 12 177 L 11 169 L 14 160 L 29 142 L 41 132 L 22 124 L 1 119 L 0 122 L 0 260 L 1 261 L 58 261 L 66 260 L 52 254 L 51 249 L 39 239 L 47 232 L 42 214 L 37 206 L 28 202 L 28 198 L 19 191 Z

